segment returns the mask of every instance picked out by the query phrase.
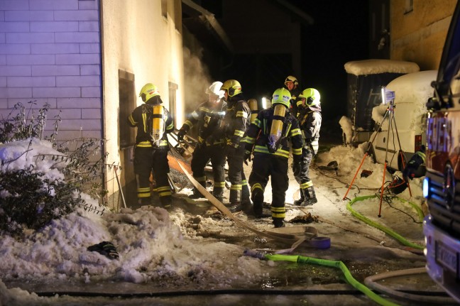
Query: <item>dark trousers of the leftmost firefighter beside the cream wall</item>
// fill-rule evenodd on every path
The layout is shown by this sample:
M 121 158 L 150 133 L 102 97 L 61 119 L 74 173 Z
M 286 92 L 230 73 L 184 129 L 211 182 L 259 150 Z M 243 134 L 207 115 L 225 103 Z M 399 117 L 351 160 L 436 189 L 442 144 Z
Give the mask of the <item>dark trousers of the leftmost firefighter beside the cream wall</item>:
M 150 173 L 156 183 L 156 191 L 160 202 L 168 207 L 172 202 L 169 185 L 168 148 L 136 147 L 134 149 L 134 173 L 136 174 L 138 201 L 150 204 Z

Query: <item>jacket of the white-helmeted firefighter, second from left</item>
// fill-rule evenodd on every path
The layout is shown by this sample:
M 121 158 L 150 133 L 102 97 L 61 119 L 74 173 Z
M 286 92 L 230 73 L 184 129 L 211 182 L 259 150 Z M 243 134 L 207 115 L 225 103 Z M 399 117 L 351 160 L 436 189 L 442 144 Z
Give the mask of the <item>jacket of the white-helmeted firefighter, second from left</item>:
M 209 139 L 215 131 L 220 129 L 221 121 L 224 119 L 227 104 L 223 100 L 211 106 L 210 102 L 204 102 L 190 114 L 182 128 L 187 133 L 195 124 L 198 125 L 198 142 L 207 141 L 209 144 L 224 143 L 223 135 L 220 138 Z

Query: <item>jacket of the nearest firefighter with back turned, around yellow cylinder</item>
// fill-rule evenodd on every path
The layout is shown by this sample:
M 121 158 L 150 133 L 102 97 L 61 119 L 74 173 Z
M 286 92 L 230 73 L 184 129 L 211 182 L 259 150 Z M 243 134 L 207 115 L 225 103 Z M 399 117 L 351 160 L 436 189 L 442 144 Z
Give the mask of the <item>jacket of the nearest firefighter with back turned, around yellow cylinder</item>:
M 275 111 L 272 106 L 270 109 L 263 109 L 259 112 L 256 120 L 251 123 L 246 133 L 246 151 L 254 151 L 254 155 L 272 154 L 268 151 L 268 136 L 270 135 L 270 128 L 273 121 L 273 112 Z M 295 160 L 300 160 L 302 157 L 302 135 L 299 129 L 299 123 L 295 116 L 286 109 L 283 120 L 283 131 L 278 143 L 278 149 L 273 153 L 275 156 L 281 158 L 289 158 L 289 140 L 292 143 L 292 155 Z

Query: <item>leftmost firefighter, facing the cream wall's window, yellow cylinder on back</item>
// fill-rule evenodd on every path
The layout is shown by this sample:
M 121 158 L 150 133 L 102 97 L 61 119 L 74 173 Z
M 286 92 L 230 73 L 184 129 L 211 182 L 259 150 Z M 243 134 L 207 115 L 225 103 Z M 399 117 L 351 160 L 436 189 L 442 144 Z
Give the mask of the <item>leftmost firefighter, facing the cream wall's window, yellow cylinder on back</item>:
M 134 173 L 136 174 L 137 196 L 141 205 L 150 204 L 150 173 L 156 183 L 160 203 L 168 208 L 172 204 L 171 189 L 168 181 L 167 133 L 174 131 L 172 117 L 164 106 L 158 87 L 145 84 L 139 94 L 141 106 L 136 107 L 128 116 L 128 123 L 137 127 L 136 146 L 134 148 Z

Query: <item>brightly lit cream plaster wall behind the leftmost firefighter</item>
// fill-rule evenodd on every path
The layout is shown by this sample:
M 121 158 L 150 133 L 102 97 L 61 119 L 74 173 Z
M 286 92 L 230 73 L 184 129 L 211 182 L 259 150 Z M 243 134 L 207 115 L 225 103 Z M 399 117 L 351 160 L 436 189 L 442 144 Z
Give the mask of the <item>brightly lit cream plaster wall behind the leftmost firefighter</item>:
M 167 5 L 166 16 L 162 9 Z M 146 83 L 156 84 L 164 106 L 169 107 L 169 83 L 177 84 L 176 126 L 181 126 L 183 115 L 183 60 L 182 23 L 175 23 L 181 16 L 180 0 L 102 0 L 102 58 L 103 58 L 103 114 L 106 151 L 109 164 L 122 167 L 121 185 L 134 179 L 132 158 L 126 150 L 119 148 L 119 122 L 126 118 L 119 116 L 119 70 L 134 76 L 137 106 L 143 102 L 138 97 Z M 112 173 L 112 174 L 111 174 Z M 107 180 L 113 180 L 113 171 L 108 171 Z M 107 185 L 118 190 L 116 184 Z

